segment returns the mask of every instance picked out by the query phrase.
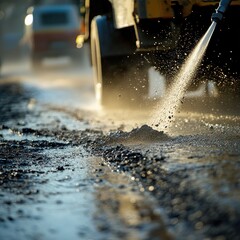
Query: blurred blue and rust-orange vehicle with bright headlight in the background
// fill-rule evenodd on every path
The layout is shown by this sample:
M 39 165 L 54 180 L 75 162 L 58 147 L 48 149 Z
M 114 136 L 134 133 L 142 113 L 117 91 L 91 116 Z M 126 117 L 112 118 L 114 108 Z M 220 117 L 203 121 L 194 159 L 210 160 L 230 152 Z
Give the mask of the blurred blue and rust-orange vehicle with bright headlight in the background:
M 80 34 L 80 18 L 75 5 L 30 7 L 25 26 L 25 41 L 31 48 L 34 68 L 39 67 L 46 57 L 77 55 L 76 39 Z

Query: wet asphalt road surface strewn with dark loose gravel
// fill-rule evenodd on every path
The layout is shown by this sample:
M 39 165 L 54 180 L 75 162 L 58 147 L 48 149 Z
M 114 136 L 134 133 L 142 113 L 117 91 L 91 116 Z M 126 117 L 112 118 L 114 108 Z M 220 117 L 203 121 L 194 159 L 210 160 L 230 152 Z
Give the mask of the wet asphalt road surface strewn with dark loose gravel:
M 0 239 L 239 239 L 239 99 L 189 99 L 162 133 L 92 81 L 85 58 L 5 64 Z

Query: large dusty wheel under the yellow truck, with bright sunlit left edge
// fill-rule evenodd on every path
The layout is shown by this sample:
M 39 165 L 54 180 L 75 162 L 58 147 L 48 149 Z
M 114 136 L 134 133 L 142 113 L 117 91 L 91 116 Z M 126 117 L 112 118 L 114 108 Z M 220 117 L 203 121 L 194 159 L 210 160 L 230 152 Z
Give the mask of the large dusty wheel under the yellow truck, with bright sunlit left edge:
M 146 64 L 134 54 L 133 29 L 116 30 L 106 16 L 91 23 L 91 57 L 97 102 L 105 107 L 140 106 L 148 93 Z

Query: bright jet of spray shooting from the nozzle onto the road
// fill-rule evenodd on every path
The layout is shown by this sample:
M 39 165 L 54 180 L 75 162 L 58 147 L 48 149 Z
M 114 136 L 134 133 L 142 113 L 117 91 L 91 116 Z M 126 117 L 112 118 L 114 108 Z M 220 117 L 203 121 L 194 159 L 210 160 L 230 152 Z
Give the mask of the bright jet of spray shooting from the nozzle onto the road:
M 212 22 L 208 31 L 201 38 L 181 67 L 174 82 L 166 93 L 165 99 L 157 106 L 151 124 L 153 128 L 164 130 L 170 127 L 174 121 L 175 114 L 179 110 L 184 94 L 201 63 L 215 27 L 216 22 Z

